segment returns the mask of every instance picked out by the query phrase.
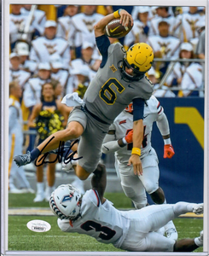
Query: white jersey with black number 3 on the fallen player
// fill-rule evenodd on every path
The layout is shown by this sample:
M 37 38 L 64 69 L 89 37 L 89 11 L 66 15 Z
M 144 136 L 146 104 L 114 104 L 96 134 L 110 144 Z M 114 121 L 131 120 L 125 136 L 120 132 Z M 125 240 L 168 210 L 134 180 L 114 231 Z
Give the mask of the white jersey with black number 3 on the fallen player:
M 120 247 L 129 230 L 130 218 L 127 211 L 119 211 L 111 201 L 101 203 L 97 191 L 90 189 L 82 198 L 81 218 L 69 224 L 69 220 L 58 219 L 61 230 L 78 232 L 96 238 L 103 243 Z

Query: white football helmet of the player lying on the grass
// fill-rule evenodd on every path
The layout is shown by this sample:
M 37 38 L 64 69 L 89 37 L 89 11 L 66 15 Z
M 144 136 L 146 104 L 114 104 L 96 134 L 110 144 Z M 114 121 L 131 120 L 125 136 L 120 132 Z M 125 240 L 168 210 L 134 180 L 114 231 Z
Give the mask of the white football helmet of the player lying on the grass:
M 49 206 L 56 217 L 74 219 L 80 213 L 81 193 L 71 184 L 59 186 L 52 192 Z

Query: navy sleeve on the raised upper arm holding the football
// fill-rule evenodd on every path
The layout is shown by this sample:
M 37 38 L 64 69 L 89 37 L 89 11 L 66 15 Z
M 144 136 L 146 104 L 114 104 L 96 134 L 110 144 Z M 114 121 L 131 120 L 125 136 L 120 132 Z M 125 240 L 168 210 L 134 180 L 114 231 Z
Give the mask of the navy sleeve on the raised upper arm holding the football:
M 105 35 L 102 35 L 101 37 L 97 37 L 96 45 L 102 55 L 102 63 L 100 64 L 100 67 L 104 67 L 105 63 L 107 62 L 108 47 L 110 46 L 109 39 Z

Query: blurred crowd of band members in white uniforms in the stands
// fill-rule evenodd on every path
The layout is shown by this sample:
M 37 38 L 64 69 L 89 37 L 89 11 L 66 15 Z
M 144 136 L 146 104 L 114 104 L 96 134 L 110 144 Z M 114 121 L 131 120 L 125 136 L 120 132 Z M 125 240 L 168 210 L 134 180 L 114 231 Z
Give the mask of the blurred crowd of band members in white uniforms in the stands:
M 11 4 L 9 96 L 20 100 L 28 149 L 34 147 L 38 123 L 26 123 L 43 102 L 43 85 L 52 84 L 53 101 L 75 91 L 84 96 L 102 61 L 93 27 L 119 8 L 132 15 L 134 26 L 125 38 L 110 42 L 125 49 L 144 42 L 154 49 L 154 67 L 147 73 L 154 95 L 204 96 L 205 7 Z

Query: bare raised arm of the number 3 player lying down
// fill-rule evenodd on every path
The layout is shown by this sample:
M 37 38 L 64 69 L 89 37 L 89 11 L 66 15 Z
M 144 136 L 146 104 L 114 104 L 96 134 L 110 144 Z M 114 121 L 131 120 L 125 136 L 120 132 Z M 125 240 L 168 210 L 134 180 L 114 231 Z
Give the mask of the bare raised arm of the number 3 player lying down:
M 92 189 L 95 189 L 100 197 L 100 201 L 103 203 L 106 199 L 103 197 L 107 184 L 106 167 L 102 164 L 98 164 L 96 170 L 93 172 L 91 178 Z

